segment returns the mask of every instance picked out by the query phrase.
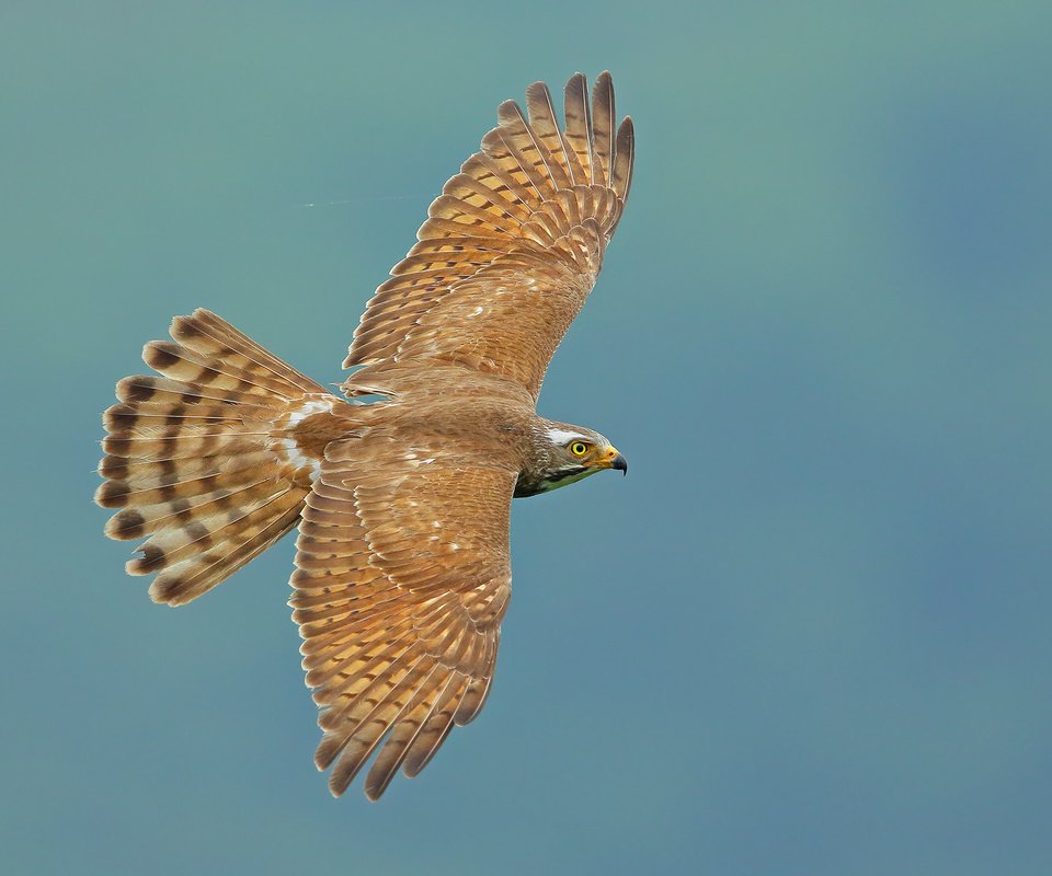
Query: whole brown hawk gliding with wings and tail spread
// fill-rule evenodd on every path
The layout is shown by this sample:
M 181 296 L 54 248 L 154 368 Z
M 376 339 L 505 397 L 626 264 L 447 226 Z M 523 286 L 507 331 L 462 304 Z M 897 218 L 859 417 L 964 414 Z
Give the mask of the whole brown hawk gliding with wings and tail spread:
M 150 596 L 181 606 L 295 527 L 319 770 L 339 796 L 374 754 L 377 799 L 416 775 L 493 681 L 511 596 L 513 496 L 626 472 L 593 429 L 536 413 L 548 364 L 595 284 L 632 175 L 602 73 L 564 125 L 542 82 L 445 184 L 369 300 L 339 397 L 207 310 L 146 345 L 117 383 L 95 500 Z M 363 397 L 368 396 L 368 397 Z

